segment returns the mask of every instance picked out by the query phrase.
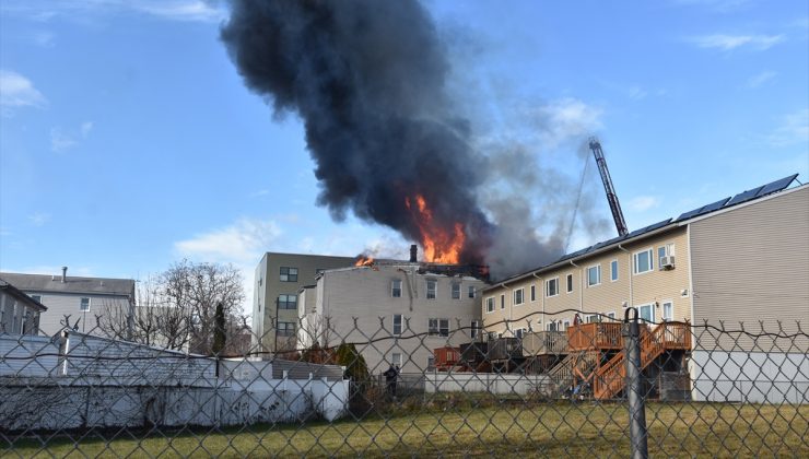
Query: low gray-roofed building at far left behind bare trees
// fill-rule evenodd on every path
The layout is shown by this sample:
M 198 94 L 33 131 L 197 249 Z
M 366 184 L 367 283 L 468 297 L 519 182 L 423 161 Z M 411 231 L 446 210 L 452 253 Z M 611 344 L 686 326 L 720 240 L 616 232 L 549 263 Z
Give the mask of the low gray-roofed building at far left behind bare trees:
M 78 331 L 103 336 L 96 316 L 134 308 L 134 280 L 86 278 L 61 274 L 23 274 L 0 272 L 0 279 L 47 306 L 40 313 L 39 330 L 52 336 L 63 328 L 66 317 Z

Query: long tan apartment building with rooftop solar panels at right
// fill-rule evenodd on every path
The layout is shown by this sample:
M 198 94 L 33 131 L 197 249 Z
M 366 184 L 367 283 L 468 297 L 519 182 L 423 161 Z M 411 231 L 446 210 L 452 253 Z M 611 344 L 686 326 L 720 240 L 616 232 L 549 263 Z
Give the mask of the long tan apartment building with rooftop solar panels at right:
M 809 399 L 809 185 L 796 175 L 568 254 L 486 289 L 491 336 L 622 319 L 689 321 L 695 400 Z M 775 331 L 757 340 L 705 327 Z M 732 369 L 731 369 L 732 368 Z M 767 368 L 778 375 L 774 380 Z M 771 373 L 772 373 L 771 372 Z

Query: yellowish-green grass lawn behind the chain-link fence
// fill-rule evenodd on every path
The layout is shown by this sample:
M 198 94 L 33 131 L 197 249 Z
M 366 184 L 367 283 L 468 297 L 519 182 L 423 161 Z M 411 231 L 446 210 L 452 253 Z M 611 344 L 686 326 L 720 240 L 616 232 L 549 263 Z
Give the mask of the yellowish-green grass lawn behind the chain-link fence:
M 649 454 L 809 457 L 809 405 L 649 403 Z M 629 415 L 612 403 L 431 403 L 363 421 L 74 434 L 19 440 L 0 456 L 267 457 L 496 455 L 626 457 Z

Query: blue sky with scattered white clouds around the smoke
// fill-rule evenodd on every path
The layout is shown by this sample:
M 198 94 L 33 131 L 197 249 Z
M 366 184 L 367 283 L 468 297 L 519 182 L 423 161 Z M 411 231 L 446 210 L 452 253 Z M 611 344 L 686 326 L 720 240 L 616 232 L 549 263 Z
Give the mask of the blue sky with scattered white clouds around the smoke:
M 570 186 L 597 134 L 630 228 L 809 181 L 806 1 L 425 5 L 476 144 L 525 145 Z M 1 270 L 143 279 L 187 257 L 232 262 L 249 286 L 266 250 L 407 251 L 315 205 L 301 123 L 245 89 L 219 40 L 226 15 L 197 0 L 0 3 Z M 614 234 L 600 186 L 590 163 L 608 225 L 577 225 L 571 249 Z

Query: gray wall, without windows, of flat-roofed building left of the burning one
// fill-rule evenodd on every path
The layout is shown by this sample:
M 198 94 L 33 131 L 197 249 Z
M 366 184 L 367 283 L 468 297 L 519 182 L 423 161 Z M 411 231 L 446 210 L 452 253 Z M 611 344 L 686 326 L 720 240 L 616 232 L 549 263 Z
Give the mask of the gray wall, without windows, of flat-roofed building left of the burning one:
M 300 254 L 275 254 L 267 252 L 256 267 L 256 278 L 254 280 L 256 287 L 254 293 L 253 305 L 253 332 L 254 345 L 260 346 L 261 351 L 273 351 L 277 344 L 281 342 L 275 338 L 275 328 L 273 321 L 278 316 L 278 321 L 297 323 L 297 309 L 278 309 L 277 301 L 279 295 L 297 295 L 297 291 L 304 285 L 315 283 L 315 275 L 318 270 L 345 268 L 353 266 L 353 257 L 327 257 L 319 255 L 300 255 Z M 281 267 L 296 268 L 297 281 L 281 281 Z M 300 306 L 298 306 L 300 309 Z M 283 338 L 284 344 L 288 343 L 288 337 Z

